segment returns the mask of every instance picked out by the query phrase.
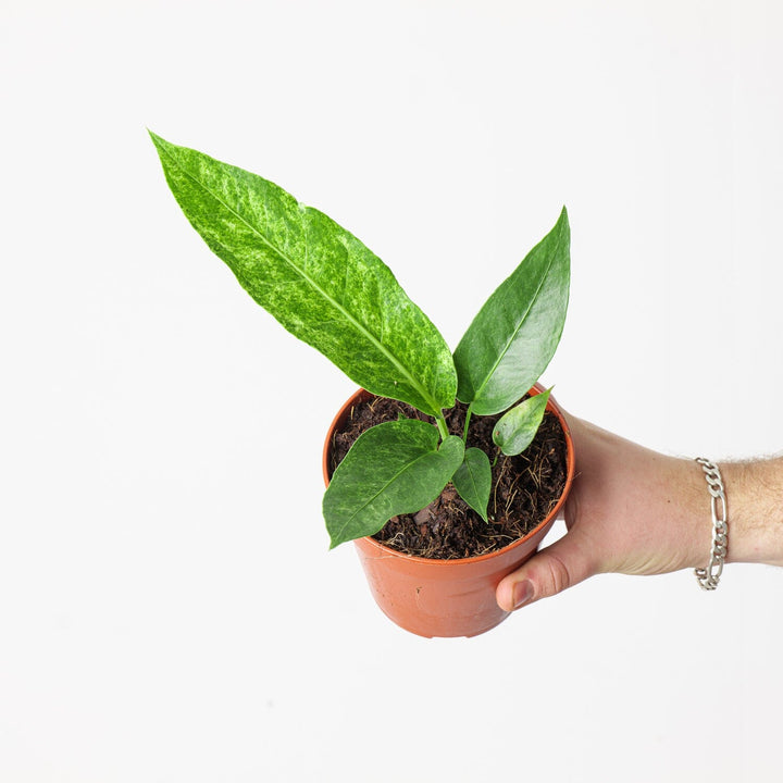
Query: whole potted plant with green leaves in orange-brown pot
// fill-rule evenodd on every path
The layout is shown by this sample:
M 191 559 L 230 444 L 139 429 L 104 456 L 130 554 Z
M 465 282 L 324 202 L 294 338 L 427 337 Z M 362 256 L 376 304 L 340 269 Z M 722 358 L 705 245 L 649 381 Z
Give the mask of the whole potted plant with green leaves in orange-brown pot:
M 472 636 L 499 623 L 506 613 L 495 602 L 497 583 L 535 551 L 573 477 L 568 426 L 550 389 L 536 385 L 566 319 L 566 209 L 452 353 L 391 271 L 325 214 L 260 176 L 150 136 L 174 197 L 208 246 L 286 330 L 361 387 L 335 418 L 324 448 L 332 547 L 357 543 L 378 605 L 413 633 Z M 377 400 L 391 401 L 390 412 L 349 436 L 350 448 L 337 459 L 336 434 L 358 407 L 374 410 Z M 543 511 L 515 540 L 443 559 L 377 539 L 411 515 L 426 532 L 435 506 L 455 508 L 462 520 L 456 524 L 472 525 L 480 538 L 502 532 L 511 500 L 498 509 L 500 475 L 506 483 L 517 476 L 513 461 L 526 459 L 545 419 L 561 444 L 554 458 L 559 483 L 543 507 L 536 486 L 524 490 Z M 482 431 L 482 446 L 474 445 L 474 431 Z M 540 476 L 532 482 L 540 484 Z

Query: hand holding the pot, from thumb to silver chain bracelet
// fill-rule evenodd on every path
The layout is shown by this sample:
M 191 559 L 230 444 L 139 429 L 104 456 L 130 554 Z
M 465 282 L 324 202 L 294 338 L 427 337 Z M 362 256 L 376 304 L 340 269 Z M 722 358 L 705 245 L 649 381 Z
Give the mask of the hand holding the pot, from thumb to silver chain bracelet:
M 701 469 L 564 413 L 576 457 L 568 533 L 497 587 L 511 611 L 598 573 L 660 574 L 704 567 L 711 542 Z

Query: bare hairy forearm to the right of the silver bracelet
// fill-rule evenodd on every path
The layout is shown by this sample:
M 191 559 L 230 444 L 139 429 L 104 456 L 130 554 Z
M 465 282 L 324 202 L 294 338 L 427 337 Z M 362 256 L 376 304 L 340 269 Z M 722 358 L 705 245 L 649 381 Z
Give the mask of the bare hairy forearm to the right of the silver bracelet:
M 783 457 L 719 467 L 728 505 L 726 562 L 783 566 Z

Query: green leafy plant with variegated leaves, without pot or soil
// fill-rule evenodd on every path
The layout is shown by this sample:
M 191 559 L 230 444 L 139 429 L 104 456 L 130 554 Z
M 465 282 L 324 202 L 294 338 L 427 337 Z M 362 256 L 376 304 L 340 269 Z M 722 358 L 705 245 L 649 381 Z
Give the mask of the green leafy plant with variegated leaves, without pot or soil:
M 490 458 L 465 446 L 468 428 L 474 415 L 502 413 L 493 438 L 511 456 L 527 448 L 542 422 L 549 390 L 523 398 L 566 320 L 566 209 L 452 353 L 388 266 L 323 212 L 256 174 L 150 135 L 183 212 L 248 294 L 368 391 L 434 420 L 377 424 L 353 444 L 323 500 L 332 547 L 425 508 L 449 482 L 487 520 Z M 451 433 L 444 411 L 457 400 L 468 410 L 463 431 Z

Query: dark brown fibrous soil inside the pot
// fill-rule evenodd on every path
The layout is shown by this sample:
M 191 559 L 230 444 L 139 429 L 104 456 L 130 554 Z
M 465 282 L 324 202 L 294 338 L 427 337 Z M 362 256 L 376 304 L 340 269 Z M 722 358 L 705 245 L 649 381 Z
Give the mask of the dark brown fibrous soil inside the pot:
M 458 402 L 446 417 L 455 435 L 462 434 L 465 410 Z M 353 407 L 344 430 L 335 433 L 333 470 L 361 433 L 375 424 L 397 420 L 399 413 L 434 421 L 405 402 L 385 397 L 360 402 Z M 547 411 L 527 449 L 517 457 L 506 457 L 492 439 L 498 419 L 474 415 L 468 434 L 468 446 L 484 449 L 494 463 L 488 524 L 448 484 L 427 508 L 417 514 L 393 517 L 373 537 L 409 555 L 449 560 L 502 549 L 533 530 L 557 504 L 566 486 L 566 436 L 557 417 Z

